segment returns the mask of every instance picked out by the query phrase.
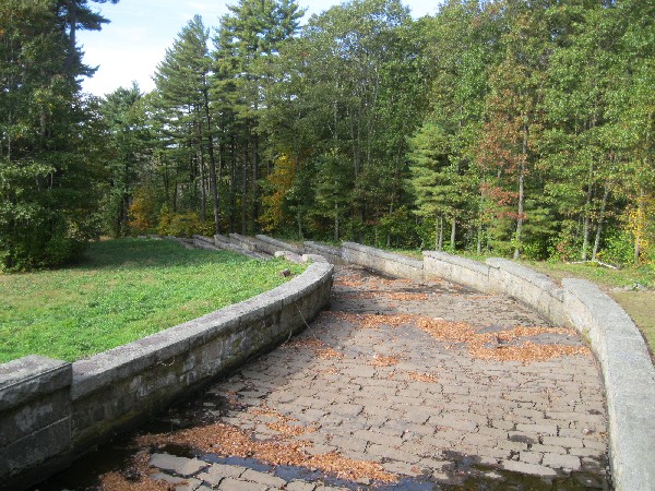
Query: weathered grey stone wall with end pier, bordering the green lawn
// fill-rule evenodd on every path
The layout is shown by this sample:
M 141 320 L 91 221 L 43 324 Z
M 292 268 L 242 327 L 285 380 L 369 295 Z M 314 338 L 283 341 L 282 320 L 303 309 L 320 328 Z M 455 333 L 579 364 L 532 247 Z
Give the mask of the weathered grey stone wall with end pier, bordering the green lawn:
M 333 266 L 88 359 L 0 366 L 0 489 L 45 479 L 217 374 L 283 343 L 330 302 Z

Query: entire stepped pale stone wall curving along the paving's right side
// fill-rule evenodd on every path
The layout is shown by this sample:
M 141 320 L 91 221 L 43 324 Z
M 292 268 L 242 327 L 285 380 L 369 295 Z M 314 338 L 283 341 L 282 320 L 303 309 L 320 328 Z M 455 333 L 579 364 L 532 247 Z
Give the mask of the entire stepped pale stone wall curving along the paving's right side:
M 594 284 L 548 276 L 503 259 L 485 263 L 426 251 L 424 261 L 352 242 L 343 258 L 383 274 L 443 278 L 489 294 L 509 295 L 556 325 L 570 325 L 590 342 L 605 383 L 609 457 L 618 490 L 655 489 L 655 368 L 630 316 Z

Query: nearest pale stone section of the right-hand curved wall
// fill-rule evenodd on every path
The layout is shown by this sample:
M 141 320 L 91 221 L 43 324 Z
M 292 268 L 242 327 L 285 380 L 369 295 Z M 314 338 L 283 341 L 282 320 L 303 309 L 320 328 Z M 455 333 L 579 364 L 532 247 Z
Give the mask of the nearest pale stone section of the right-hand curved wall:
M 584 279 L 564 279 L 564 311 L 600 363 L 616 489 L 655 489 L 655 368 L 641 333 L 610 297 Z

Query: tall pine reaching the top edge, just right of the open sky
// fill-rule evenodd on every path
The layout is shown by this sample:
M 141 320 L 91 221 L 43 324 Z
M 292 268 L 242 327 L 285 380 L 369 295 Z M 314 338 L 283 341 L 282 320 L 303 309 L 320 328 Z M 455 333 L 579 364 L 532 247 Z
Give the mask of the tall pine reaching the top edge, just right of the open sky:
M 273 82 L 271 64 L 282 44 L 297 33 L 303 11 L 295 0 L 239 0 L 228 9 L 214 38 L 218 72 L 215 92 L 229 106 L 230 134 L 224 139 L 231 153 L 233 187 L 240 175 L 240 229 L 247 232 L 254 231 L 261 214 L 264 152 L 260 119 L 267 107 L 262 97 Z

